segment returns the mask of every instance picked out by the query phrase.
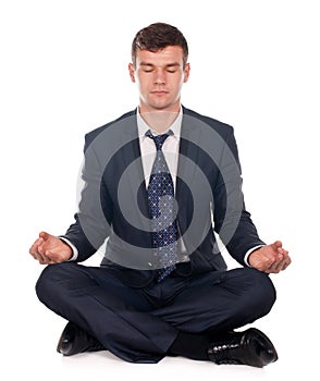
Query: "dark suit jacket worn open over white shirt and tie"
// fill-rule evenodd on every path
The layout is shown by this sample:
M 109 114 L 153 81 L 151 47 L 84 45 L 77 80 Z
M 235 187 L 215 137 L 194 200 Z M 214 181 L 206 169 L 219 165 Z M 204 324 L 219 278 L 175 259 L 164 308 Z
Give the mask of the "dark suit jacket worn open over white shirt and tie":
M 64 235 L 76 246 L 77 261 L 99 249 L 101 265 L 115 276 L 132 286 L 148 284 L 156 267 L 136 111 L 86 135 L 83 182 L 75 223 Z M 186 108 L 175 198 L 189 260 L 180 257 L 181 275 L 226 268 L 216 234 L 243 266 L 247 250 L 264 244 L 245 209 L 233 128 Z

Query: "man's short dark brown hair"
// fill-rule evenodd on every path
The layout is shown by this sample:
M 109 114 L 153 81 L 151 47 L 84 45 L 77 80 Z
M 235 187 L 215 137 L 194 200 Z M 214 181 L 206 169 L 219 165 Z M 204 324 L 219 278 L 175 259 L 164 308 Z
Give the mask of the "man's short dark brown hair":
M 155 23 L 140 29 L 132 42 L 132 62 L 136 65 L 137 49 L 158 51 L 168 46 L 179 46 L 183 50 L 183 64 L 187 63 L 188 45 L 183 34 L 175 27 L 165 23 Z

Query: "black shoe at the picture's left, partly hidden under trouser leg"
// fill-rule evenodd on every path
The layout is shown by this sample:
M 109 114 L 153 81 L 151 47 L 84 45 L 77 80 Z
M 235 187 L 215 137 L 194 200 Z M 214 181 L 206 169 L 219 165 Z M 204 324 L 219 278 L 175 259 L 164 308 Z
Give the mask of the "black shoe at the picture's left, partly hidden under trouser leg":
M 104 351 L 104 347 L 86 331 L 69 322 L 59 340 L 57 352 L 64 356 L 72 356 L 83 352 Z

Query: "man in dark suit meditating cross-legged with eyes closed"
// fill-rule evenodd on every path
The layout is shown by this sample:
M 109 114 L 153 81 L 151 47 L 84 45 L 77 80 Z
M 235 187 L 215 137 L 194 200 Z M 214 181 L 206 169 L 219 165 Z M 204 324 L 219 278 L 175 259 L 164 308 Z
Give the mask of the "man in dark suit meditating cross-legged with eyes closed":
M 39 299 L 69 320 L 58 352 L 108 349 L 132 362 L 167 355 L 263 367 L 278 359 L 250 328 L 290 265 L 246 211 L 233 128 L 181 105 L 188 47 L 175 27 L 139 30 L 130 76 L 137 110 L 86 135 L 81 202 L 65 235 L 41 232 Z M 213 232 L 214 230 L 214 232 Z M 241 267 L 227 271 L 219 234 Z M 78 265 L 103 250 L 101 267 Z

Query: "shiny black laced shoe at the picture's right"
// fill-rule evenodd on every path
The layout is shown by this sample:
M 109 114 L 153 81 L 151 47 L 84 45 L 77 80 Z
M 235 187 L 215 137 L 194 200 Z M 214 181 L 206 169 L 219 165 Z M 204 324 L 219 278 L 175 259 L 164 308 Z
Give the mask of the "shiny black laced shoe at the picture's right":
M 278 354 L 271 341 L 255 328 L 244 332 L 221 334 L 210 344 L 208 356 L 218 365 L 241 364 L 258 368 L 278 360 Z

